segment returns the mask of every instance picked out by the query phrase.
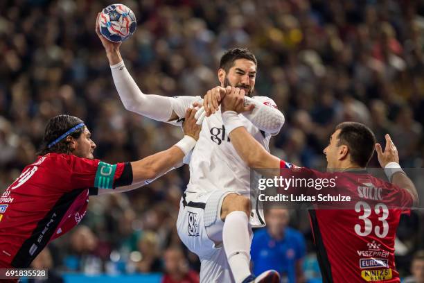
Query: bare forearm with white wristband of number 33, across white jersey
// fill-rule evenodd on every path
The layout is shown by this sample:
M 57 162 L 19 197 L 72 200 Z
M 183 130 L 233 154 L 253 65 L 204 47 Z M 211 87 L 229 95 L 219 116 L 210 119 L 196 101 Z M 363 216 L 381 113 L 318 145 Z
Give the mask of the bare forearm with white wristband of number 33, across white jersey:
M 238 124 L 236 112 L 224 112 L 222 120 L 226 129 L 229 129 L 231 144 L 247 166 L 254 169 L 279 169 L 280 160 L 268 153 L 254 137 L 252 137 L 241 123 Z M 265 172 L 266 171 L 266 172 Z M 265 170 L 266 175 L 279 175 L 278 170 Z

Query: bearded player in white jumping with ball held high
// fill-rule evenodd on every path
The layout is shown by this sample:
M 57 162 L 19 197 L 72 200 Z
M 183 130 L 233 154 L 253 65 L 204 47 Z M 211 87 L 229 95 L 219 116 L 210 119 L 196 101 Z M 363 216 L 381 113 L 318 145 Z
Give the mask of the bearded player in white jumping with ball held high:
M 189 250 L 200 258 L 200 282 L 279 282 L 276 271 L 255 277 L 250 272 L 251 227 L 262 227 L 260 204 L 250 196 L 250 170 L 231 145 L 223 126 L 220 101 L 231 87 L 251 96 L 257 62 L 247 49 L 224 53 L 218 69 L 220 86 L 200 96 L 167 97 L 143 94 L 125 68 L 120 43 L 109 42 L 96 33 L 106 49 L 112 77 L 127 110 L 157 121 L 181 125 L 193 103 L 203 108 L 198 121 L 202 131 L 191 156 L 190 181 L 180 203 L 177 231 Z M 227 87 L 227 89 L 226 89 Z M 250 134 L 268 151 L 272 135 L 279 133 L 284 116 L 271 98 L 246 98 L 246 112 L 240 114 Z M 203 114 L 202 114 L 203 112 Z

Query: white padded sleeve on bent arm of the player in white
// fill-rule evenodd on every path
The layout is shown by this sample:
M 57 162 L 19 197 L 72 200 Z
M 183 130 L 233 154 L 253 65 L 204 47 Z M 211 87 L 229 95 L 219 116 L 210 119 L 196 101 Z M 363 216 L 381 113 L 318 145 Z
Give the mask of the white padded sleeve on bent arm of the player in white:
M 254 126 L 271 135 L 279 133 L 285 121 L 283 113 L 254 98 L 245 97 L 245 101 L 255 105 L 254 110 L 251 112 L 242 113 Z

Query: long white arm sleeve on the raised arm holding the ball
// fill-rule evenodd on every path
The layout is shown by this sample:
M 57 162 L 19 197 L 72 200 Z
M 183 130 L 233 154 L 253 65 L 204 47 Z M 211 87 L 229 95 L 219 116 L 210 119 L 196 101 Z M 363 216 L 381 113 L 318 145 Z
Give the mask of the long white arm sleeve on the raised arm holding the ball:
M 111 65 L 112 77 L 119 97 L 127 110 L 139 113 L 157 121 L 169 121 L 173 117 L 173 105 L 170 97 L 155 94 L 143 94 L 134 79 L 125 68 L 120 55 L 110 55 L 109 62 L 118 63 Z

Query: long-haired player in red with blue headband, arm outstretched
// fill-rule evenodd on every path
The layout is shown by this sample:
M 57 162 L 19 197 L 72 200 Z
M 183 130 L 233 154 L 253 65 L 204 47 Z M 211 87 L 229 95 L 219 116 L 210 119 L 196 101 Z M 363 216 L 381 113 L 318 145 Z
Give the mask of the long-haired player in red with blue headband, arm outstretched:
M 81 119 L 50 119 L 39 157 L 0 198 L 0 268 L 28 268 L 48 242 L 81 221 L 89 196 L 139 188 L 181 164 L 199 137 L 196 111 L 187 110 L 185 136 L 175 146 L 118 164 L 94 159 L 96 144 Z

